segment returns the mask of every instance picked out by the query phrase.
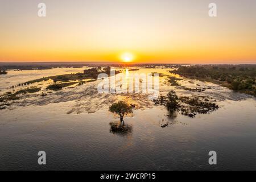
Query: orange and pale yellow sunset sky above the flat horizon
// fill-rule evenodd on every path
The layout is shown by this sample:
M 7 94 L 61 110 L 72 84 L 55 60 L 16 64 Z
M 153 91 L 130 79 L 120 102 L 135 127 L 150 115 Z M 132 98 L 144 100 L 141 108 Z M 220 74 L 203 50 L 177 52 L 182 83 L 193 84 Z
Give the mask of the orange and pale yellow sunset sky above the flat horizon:
M 208 15 L 212 2 L 217 17 Z M 256 63 L 256 1 L 0 0 L 1 62 L 124 54 L 136 63 Z

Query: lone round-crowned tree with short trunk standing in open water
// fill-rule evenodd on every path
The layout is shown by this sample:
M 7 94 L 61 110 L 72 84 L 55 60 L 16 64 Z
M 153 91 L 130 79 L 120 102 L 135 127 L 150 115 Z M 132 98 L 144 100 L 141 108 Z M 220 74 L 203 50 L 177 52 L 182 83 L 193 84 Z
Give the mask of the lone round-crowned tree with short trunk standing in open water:
M 123 117 L 126 114 L 133 113 L 133 109 L 131 106 L 129 106 L 126 102 L 124 101 L 118 101 L 117 103 L 112 104 L 109 107 L 109 111 L 115 114 L 118 114 L 120 117 L 120 121 L 123 122 Z

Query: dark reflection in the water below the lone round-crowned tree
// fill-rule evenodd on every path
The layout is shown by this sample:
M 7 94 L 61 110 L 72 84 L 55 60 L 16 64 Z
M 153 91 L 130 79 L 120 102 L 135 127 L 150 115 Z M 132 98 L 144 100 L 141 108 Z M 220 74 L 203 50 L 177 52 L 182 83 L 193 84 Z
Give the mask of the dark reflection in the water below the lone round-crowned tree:
M 110 129 L 109 132 L 117 135 L 128 135 L 131 134 L 133 131 L 133 127 L 125 122 L 110 122 Z

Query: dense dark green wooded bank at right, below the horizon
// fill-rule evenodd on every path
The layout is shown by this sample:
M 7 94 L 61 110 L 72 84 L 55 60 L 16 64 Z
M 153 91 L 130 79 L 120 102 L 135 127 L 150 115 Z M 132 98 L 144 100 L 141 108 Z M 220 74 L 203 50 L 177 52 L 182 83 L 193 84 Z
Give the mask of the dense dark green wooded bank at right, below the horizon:
M 230 89 L 256 96 L 256 65 L 194 65 L 179 67 L 172 73 L 221 84 Z

